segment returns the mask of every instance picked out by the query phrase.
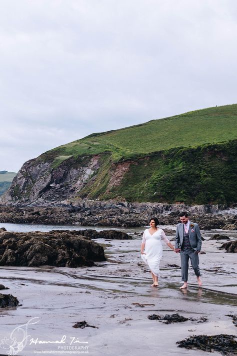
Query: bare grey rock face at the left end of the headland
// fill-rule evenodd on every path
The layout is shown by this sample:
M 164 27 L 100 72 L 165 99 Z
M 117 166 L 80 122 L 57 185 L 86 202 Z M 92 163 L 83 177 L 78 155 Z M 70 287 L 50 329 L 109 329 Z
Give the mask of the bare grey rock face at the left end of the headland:
M 23 164 L 11 187 L 1 198 L 2 204 L 52 206 L 65 198 L 74 198 L 101 166 L 101 156 L 59 156 L 44 161 L 41 157 Z

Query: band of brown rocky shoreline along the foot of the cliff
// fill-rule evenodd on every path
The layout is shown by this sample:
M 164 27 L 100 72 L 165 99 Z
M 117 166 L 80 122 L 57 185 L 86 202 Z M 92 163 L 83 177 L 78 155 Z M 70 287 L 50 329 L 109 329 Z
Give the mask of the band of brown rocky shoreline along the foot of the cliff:
M 223 213 L 223 206 L 158 203 L 127 203 L 117 201 L 65 201 L 55 207 L 15 207 L 0 205 L 1 223 L 77 224 L 81 226 L 138 227 L 157 216 L 160 225 L 175 225 L 180 211 L 186 210 L 190 220 L 201 229 L 237 230 L 237 214 Z

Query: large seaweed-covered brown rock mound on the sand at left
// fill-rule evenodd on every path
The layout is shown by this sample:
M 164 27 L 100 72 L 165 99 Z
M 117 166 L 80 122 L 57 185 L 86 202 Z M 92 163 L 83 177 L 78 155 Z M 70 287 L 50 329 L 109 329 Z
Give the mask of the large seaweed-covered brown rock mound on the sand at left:
M 0 233 L 0 265 L 92 266 L 104 261 L 103 247 L 78 231 Z

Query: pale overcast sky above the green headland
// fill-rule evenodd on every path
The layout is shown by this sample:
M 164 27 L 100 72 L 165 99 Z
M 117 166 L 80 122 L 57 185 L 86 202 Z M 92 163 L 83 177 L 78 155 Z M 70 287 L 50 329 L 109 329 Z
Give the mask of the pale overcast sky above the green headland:
M 0 0 L 0 170 L 236 103 L 236 0 Z

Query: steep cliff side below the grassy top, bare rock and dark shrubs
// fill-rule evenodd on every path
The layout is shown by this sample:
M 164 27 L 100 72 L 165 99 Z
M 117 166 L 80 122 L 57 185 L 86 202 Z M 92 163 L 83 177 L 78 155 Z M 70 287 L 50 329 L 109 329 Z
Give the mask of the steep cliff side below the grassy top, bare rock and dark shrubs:
M 60 206 L 78 199 L 224 204 L 237 201 L 237 141 L 176 148 L 115 163 L 110 153 L 24 163 L 2 204 Z

